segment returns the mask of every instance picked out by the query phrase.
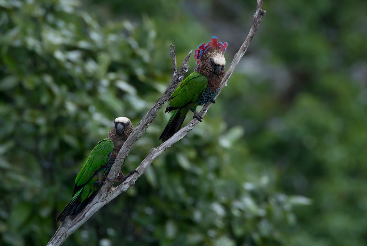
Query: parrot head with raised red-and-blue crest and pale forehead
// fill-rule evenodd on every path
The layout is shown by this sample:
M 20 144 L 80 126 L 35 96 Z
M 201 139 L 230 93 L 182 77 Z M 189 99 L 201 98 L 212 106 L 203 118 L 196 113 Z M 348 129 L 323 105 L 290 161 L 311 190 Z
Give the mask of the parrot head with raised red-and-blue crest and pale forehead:
M 220 77 L 224 75 L 226 65 L 224 52 L 227 46 L 227 42 L 219 42 L 218 38 L 215 36 L 212 36 L 207 44 L 199 44 L 195 50 L 194 56 L 195 59 L 197 59 L 195 71 L 205 76 L 216 74 Z

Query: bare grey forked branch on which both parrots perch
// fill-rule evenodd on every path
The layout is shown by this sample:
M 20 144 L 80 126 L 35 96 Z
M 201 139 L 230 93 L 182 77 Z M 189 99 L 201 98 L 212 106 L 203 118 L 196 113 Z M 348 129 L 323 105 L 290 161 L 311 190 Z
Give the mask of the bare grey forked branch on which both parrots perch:
M 262 2 L 263 0 L 257 0 L 257 10 L 253 17 L 250 32 L 248 33 L 246 40 L 241 45 L 241 48 L 234 56 L 233 61 L 221 82 L 217 96 L 219 95 L 221 90 L 226 86 L 228 79 L 230 78 L 232 72 L 235 70 L 240 59 L 246 52 L 252 38 L 254 37 L 259 27 L 262 16 L 264 16 L 265 14 L 265 11 L 262 10 Z M 187 63 L 189 61 L 191 53 L 192 51 L 190 51 L 189 54 L 186 56 L 185 60 L 181 65 L 181 68 L 177 72 L 175 48 L 173 45 L 171 45 L 170 54 L 172 57 L 172 70 L 173 70 L 172 81 L 168 86 L 167 90 L 163 93 L 163 95 L 159 98 L 159 100 L 155 103 L 155 105 L 148 111 L 148 113 L 146 113 L 141 122 L 138 124 L 138 126 L 135 128 L 135 130 L 131 133 L 130 137 L 126 140 L 126 142 L 122 146 L 119 154 L 116 157 L 116 161 L 109 172 L 108 175 L 109 180 L 115 180 L 117 178 L 117 175 L 119 174 L 119 171 L 121 170 L 121 167 L 128 153 L 130 152 L 132 146 L 145 133 L 148 126 L 157 116 L 157 112 L 159 111 L 159 109 L 170 98 L 172 92 L 175 90 L 178 83 L 183 81 L 183 74 L 188 71 Z M 207 103 L 206 105 L 204 105 L 203 109 L 200 111 L 200 114 L 202 116 L 206 114 L 210 105 L 211 103 Z M 146 168 L 148 168 L 148 166 L 152 163 L 153 160 L 155 160 L 161 153 L 163 153 L 164 150 L 170 148 L 174 143 L 179 141 L 181 138 L 185 137 L 185 135 L 188 134 L 189 131 L 192 130 L 198 123 L 199 121 L 197 119 L 191 120 L 185 127 L 182 127 L 181 130 L 179 130 L 166 142 L 162 143 L 155 149 L 151 149 L 148 156 L 146 156 L 145 159 L 141 162 L 141 164 L 136 168 L 136 171 L 138 171 L 138 173 L 129 176 L 123 184 L 120 184 L 117 187 L 112 187 L 113 182 L 109 182 L 106 180 L 106 184 L 102 186 L 101 190 L 98 192 L 94 200 L 87 205 L 87 207 L 83 210 L 83 212 L 81 212 L 72 219 L 69 218 L 72 216 L 69 216 L 68 218 L 66 218 L 66 220 L 64 220 L 60 224 L 60 227 L 55 232 L 55 235 L 51 238 L 50 242 L 48 242 L 47 246 L 62 245 L 65 239 L 69 235 L 71 235 L 74 231 L 76 231 L 77 228 L 79 228 L 85 221 L 87 221 L 95 212 L 101 209 L 104 205 L 108 204 L 108 202 L 116 198 L 122 192 L 130 189 L 131 186 L 135 184 L 135 181 L 139 178 L 139 176 L 141 176 L 145 172 Z

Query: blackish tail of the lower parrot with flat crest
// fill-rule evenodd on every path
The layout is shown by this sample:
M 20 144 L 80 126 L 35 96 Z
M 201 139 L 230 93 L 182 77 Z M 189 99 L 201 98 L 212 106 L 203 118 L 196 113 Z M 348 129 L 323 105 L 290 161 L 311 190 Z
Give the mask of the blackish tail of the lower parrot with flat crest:
M 72 200 L 65 206 L 64 210 L 62 210 L 59 217 L 57 217 L 56 221 L 63 221 L 69 215 L 76 215 L 83 210 L 87 204 L 94 198 L 97 191 L 90 191 L 92 194 L 88 194 L 87 198 L 83 201 L 80 200 L 80 196 L 83 193 L 84 187 L 81 188 L 75 195 L 73 196 Z

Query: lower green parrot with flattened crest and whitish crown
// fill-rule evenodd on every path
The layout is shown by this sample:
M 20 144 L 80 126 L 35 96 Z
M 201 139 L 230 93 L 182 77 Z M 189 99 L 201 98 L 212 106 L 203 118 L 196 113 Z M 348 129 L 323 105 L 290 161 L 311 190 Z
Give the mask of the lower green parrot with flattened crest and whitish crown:
M 92 149 L 83 167 L 75 179 L 72 200 L 66 205 L 56 221 L 63 221 L 69 215 L 76 215 L 93 199 L 98 189 L 107 177 L 117 153 L 134 128 L 130 119 L 119 117 L 115 119 L 115 127 L 108 133 L 108 137 L 99 141 Z M 124 181 L 124 174 L 120 171 L 117 182 Z

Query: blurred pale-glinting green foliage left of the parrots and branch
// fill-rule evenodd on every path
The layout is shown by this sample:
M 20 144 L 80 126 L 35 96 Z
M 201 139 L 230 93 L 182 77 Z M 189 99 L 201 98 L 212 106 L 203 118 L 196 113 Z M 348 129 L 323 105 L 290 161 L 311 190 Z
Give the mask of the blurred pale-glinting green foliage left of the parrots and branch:
M 46 244 L 112 120 L 155 99 L 155 31 L 149 19 L 101 26 L 76 1 L 1 3 L 1 235 Z

